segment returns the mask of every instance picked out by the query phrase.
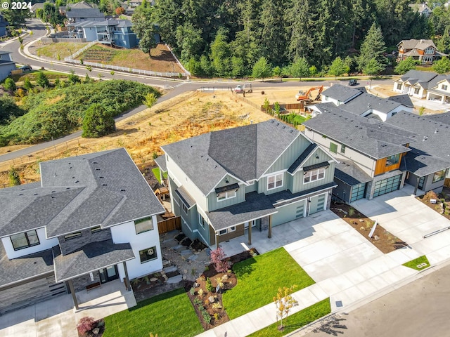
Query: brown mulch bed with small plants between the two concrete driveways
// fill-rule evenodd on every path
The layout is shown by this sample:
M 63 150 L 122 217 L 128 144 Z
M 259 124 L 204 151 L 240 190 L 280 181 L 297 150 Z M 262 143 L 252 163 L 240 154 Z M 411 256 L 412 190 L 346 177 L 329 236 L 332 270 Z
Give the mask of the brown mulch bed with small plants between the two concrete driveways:
M 387 232 L 387 230 L 380 226 L 380 224 L 377 224 L 372 238 L 368 237 L 375 221 L 357 211 L 352 206 L 335 203 L 331 204 L 330 210 L 342 218 L 342 220 L 345 220 L 346 223 L 352 225 L 352 227 L 359 232 L 359 234 L 365 237 L 383 253 L 390 253 L 396 249 L 401 249 L 408 246 L 406 242 L 401 241 L 398 237 L 392 235 L 390 232 Z

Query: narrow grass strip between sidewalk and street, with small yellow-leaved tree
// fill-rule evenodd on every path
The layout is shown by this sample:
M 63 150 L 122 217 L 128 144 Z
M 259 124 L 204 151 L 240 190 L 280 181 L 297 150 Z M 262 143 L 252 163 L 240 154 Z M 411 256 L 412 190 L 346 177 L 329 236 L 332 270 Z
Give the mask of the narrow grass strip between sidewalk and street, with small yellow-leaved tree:
M 283 319 L 283 325 L 285 329 L 283 331 L 278 330 L 279 323 L 274 323 L 267 326 L 264 329 L 258 330 L 247 337 L 277 337 L 285 336 L 286 333 L 300 329 L 316 319 L 319 319 L 331 312 L 330 298 L 321 300 L 320 302 L 311 305 L 310 307 L 296 312 L 288 317 L 288 320 Z

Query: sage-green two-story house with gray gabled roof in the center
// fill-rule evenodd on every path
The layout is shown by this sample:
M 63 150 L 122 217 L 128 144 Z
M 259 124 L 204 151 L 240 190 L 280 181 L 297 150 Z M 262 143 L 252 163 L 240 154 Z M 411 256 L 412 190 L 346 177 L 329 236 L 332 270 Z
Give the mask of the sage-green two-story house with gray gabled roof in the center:
M 184 233 L 217 247 L 252 227 L 272 226 L 330 206 L 335 160 L 295 128 L 271 119 L 162 147 L 172 209 Z M 165 160 L 163 160 L 165 159 Z

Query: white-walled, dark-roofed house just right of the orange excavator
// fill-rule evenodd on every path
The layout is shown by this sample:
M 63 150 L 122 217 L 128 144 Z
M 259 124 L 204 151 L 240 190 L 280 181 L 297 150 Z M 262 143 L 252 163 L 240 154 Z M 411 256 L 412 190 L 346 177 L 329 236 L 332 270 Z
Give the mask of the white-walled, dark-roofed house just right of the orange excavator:
M 380 98 L 366 93 L 364 89 L 349 88 L 340 84 L 335 84 L 322 93 L 322 102 L 311 106 L 313 116 L 321 114 L 329 107 L 340 107 L 349 113 L 361 117 L 375 117 L 381 121 L 394 116 L 401 110 L 413 111 L 411 100 L 405 103 L 404 100 L 394 98 Z

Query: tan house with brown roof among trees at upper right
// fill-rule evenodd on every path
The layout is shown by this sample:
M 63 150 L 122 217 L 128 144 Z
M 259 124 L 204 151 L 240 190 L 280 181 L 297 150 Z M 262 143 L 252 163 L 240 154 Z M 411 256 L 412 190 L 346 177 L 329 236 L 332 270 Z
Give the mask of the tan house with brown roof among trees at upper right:
M 401 40 L 397 44 L 397 48 L 399 49 L 399 61 L 406 58 L 413 58 L 422 63 L 432 63 L 435 60 L 439 60 L 439 58 L 448 56 L 438 51 L 435 43 L 430 39 Z

